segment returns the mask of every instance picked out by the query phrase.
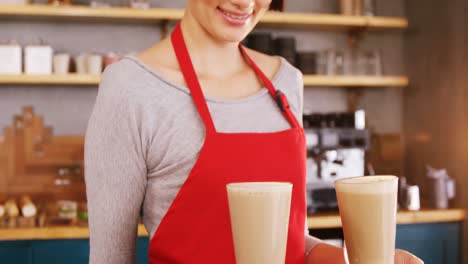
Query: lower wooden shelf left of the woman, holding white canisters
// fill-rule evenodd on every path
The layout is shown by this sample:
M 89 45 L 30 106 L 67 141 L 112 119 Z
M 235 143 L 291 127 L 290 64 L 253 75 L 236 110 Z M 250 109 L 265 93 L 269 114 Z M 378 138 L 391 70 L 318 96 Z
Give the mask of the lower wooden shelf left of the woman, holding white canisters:
M 99 80 L 99 75 L 0 75 L 0 85 L 97 85 Z

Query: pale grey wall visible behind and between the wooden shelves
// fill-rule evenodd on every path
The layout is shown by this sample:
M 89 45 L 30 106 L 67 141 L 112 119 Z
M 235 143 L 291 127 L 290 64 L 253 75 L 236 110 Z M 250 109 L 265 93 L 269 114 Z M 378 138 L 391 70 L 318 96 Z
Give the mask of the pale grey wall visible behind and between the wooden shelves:
M 125 1 L 107 0 L 115 4 Z M 155 0 L 153 6 L 183 7 L 185 1 Z M 289 0 L 291 12 L 338 12 L 338 0 Z M 405 16 L 403 0 L 377 1 L 377 14 Z M 299 50 L 344 48 L 347 35 L 342 32 L 307 32 L 281 30 L 275 35 L 293 35 Z M 159 41 L 157 25 L 124 23 L 91 23 L 55 21 L 0 20 L 0 41 L 16 39 L 28 44 L 47 40 L 57 51 L 132 52 L 145 49 Z M 403 38 L 400 31 L 366 34 L 362 46 L 383 51 L 386 74 L 403 74 Z M 84 134 L 97 90 L 94 87 L 61 86 L 1 86 L 0 128 L 10 125 L 12 116 L 23 105 L 34 105 L 36 113 L 44 115 L 56 134 Z M 360 106 L 367 110 L 369 124 L 380 133 L 400 133 L 402 130 L 402 90 L 399 88 L 368 89 Z M 347 108 L 347 92 L 340 88 L 308 88 L 305 108 L 309 111 L 343 111 Z

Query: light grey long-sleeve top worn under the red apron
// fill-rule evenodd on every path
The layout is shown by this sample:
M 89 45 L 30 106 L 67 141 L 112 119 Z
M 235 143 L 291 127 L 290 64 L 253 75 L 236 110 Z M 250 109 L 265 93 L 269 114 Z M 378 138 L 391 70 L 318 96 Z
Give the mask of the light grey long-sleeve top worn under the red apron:
M 302 74 L 281 59 L 273 84 L 302 120 Z M 243 99 L 207 98 L 218 131 L 290 126 L 264 88 Z M 86 131 L 90 263 L 134 263 L 140 212 L 150 238 L 187 179 L 205 136 L 188 88 L 133 56 L 107 67 Z M 229 151 L 229 150 L 226 150 Z M 306 232 L 306 251 L 319 240 Z

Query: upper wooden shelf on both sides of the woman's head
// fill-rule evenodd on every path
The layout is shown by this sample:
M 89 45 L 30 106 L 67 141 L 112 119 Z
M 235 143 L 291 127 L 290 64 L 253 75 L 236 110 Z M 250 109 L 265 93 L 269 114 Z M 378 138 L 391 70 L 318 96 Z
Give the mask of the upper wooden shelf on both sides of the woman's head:
M 128 7 L 49 6 L 49 5 L 2 5 L 0 17 L 13 19 L 59 18 L 83 21 L 112 20 L 155 23 L 174 21 L 183 16 L 182 9 Z M 379 29 L 405 29 L 408 20 L 390 17 L 342 16 L 337 14 L 279 13 L 269 12 L 260 21 L 261 26 L 286 28 L 352 29 L 370 27 Z

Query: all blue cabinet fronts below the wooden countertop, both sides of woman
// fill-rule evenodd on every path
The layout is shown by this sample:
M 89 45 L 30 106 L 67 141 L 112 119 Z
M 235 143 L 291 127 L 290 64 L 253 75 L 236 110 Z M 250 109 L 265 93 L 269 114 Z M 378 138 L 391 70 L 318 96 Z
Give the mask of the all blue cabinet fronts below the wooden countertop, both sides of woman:
M 425 264 L 460 264 L 461 232 L 461 223 L 398 225 L 396 246 Z M 137 264 L 148 264 L 148 246 L 147 237 L 138 238 Z M 88 239 L 0 242 L 1 264 L 88 264 L 88 259 Z

